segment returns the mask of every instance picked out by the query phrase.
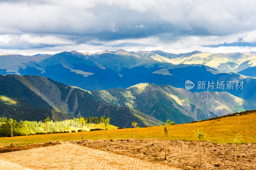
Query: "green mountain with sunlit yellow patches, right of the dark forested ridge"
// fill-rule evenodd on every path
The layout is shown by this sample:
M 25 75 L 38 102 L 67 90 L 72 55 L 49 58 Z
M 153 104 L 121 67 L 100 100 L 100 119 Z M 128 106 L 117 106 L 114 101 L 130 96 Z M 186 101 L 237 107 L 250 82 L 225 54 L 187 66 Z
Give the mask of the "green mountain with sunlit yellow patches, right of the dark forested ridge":
M 189 92 L 170 85 L 134 85 L 91 91 L 97 99 L 116 106 L 134 108 L 161 121 L 172 119 L 176 123 L 202 120 L 255 109 L 256 105 L 227 92 Z

